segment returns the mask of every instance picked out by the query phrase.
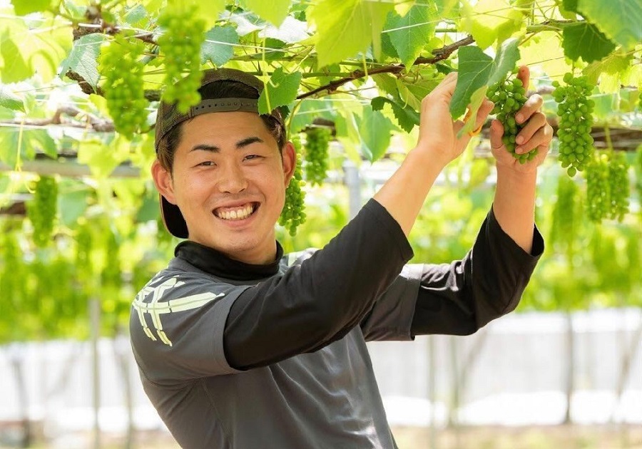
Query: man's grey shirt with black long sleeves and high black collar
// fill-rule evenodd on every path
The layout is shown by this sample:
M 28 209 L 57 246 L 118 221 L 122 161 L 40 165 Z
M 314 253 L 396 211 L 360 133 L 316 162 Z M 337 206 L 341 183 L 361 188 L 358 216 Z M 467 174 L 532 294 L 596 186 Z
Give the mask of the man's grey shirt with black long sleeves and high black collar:
M 184 448 L 394 448 L 365 342 L 476 331 L 518 303 L 536 229 L 533 248 L 491 211 L 464 259 L 407 265 L 374 200 L 324 249 L 271 265 L 183 242 L 133 303 L 143 388 Z

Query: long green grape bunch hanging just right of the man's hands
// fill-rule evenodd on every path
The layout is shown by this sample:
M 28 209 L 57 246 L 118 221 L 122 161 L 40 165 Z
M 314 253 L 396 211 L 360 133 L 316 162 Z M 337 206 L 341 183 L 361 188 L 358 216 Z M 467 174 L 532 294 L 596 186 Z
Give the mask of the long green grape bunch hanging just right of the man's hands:
M 559 81 L 553 82 L 553 98 L 559 115 L 559 160 L 561 166 L 567 168 L 569 176 L 584 170 L 586 162 L 593 154 L 593 108 L 595 103 L 588 98 L 593 93 L 593 84 L 586 76 L 574 77 L 571 73 L 564 74 L 562 86 Z

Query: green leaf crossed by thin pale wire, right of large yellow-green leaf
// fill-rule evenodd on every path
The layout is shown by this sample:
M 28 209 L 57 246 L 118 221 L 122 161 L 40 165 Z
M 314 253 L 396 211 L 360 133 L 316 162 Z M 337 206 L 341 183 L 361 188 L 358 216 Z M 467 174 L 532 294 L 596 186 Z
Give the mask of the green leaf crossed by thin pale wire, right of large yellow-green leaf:
M 386 28 L 392 30 L 390 41 L 406 67 L 412 66 L 434 32 L 427 7 L 419 5 L 412 6 L 403 17 L 389 14 Z

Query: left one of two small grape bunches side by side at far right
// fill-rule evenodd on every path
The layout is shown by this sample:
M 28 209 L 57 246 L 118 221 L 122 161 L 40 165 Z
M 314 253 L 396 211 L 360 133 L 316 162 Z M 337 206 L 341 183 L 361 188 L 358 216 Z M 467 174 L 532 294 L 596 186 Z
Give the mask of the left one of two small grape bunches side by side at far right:
M 608 181 L 608 156 L 595 154 L 586 164 L 586 211 L 588 219 L 599 223 L 611 213 L 611 185 Z

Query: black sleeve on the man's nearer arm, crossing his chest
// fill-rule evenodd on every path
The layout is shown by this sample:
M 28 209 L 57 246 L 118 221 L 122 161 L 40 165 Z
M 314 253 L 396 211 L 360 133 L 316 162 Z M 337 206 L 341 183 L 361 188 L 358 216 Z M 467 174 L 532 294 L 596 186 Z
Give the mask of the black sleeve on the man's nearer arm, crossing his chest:
M 223 335 L 230 366 L 266 366 L 341 339 L 411 258 L 397 221 L 370 200 L 326 247 L 240 294 Z

